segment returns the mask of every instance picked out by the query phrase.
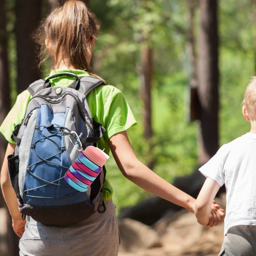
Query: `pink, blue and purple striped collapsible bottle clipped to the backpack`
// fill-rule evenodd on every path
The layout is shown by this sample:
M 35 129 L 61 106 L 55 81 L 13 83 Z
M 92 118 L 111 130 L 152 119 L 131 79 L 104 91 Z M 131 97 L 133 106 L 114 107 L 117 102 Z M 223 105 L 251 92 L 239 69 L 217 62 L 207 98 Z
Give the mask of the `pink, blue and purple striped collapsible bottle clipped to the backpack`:
M 64 179 L 76 190 L 85 192 L 97 178 L 109 156 L 95 146 L 88 146 L 69 167 Z

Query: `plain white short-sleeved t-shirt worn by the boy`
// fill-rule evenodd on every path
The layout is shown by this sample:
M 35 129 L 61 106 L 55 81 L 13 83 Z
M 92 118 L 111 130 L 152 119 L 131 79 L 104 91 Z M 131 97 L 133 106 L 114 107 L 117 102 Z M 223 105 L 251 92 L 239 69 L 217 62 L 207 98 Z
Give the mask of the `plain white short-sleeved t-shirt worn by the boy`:
M 237 225 L 256 225 L 256 134 L 224 144 L 200 172 L 226 185 L 224 234 Z

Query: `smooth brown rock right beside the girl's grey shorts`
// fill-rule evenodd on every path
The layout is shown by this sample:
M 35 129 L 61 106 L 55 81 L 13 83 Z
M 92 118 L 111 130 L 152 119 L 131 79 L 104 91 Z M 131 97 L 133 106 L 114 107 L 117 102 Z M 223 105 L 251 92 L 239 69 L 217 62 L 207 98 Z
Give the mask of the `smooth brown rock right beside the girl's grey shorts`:
M 150 226 L 132 219 L 119 220 L 120 251 L 138 252 L 161 246 L 157 232 Z

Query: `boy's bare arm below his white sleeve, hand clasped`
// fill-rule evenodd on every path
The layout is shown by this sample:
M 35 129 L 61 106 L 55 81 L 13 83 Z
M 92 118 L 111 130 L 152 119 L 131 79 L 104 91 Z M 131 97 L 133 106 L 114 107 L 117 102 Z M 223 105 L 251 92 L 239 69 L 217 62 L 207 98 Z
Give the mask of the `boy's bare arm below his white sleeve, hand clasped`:
M 215 211 L 215 209 L 212 208 L 211 202 L 214 200 L 219 189 L 220 185 L 216 181 L 211 178 L 205 180 L 195 204 L 195 215 L 200 224 L 205 226 L 208 225 L 209 220 L 212 221 L 210 219 L 210 214 L 211 216 L 218 214 L 218 209 Z M 212 223 L 209 226 L 212 226 Z

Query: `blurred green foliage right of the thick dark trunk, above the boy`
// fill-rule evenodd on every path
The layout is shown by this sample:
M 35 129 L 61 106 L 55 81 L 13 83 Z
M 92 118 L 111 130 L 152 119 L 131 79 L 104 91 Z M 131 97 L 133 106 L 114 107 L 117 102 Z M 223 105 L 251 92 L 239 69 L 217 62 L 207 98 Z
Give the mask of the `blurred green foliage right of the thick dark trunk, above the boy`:
M 254 74 L 253 5 L 245 0 L 220 6 L 220 144 L 249 132 L 242 115 L 245 88 Z

